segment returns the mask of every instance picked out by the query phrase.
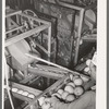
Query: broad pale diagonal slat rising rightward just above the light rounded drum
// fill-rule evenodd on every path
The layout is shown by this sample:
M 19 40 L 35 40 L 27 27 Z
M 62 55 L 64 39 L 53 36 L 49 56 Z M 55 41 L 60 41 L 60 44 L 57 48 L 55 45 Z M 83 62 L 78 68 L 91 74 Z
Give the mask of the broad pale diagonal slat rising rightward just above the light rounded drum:
M 29 36 L 32 36 L 33 34 L 39 33 L 39 32 L 41 32 L 41 31 L 44 31 L 44 29 L 46 29 L 46 28 L 48 28 L 48 27 L 49 27 L 49 25 L 41 25 L 41 26 L 38 26 L 38 27 L 34 28 L 34 29 L 31 29 L 31 31 L 28 31 L 28 32 L 25 32 L 25 33 L 23 33 L 23 34 L 21 34 L 21 35 L 17 35 L 17 36 L 15 36 L 15 37 L 12 37 L 12 38 L 10 38 L 10 39 L 7 39 L 7 40 L 5 40 L 5 47 L 7 47 L 7 46 L 10 46 L 10 45 L 12 45 L 12 44 L 14 44 L 14 43 L 16 43 L 16 41 L 20 41 L 20 40 L 22 40 L 22 39 L 24 39 L 24 38 L 26 38 L 26 37 L 29 37 Z

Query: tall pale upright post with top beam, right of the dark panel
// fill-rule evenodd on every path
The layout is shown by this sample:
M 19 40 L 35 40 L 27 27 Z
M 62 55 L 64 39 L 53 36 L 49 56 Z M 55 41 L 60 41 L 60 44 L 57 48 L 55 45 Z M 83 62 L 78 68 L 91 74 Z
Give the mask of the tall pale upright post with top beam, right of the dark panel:
M 78 59 L 80 39 L 82 37 L 81 34 L 82 34 L 82 25 L 83 25 L 84 14 L 85 14 L 86 10 L 93 9 L 96 4 L 90 4 L 88 7 L 77 7 L 77 5 L 74 5 L 74 4 L 62 2 L 61 0 L 56 0 L 56 1 L 57 1 L 57 3 L 59 3 L 62 7 L 74 9 L 74 10 L 80 12 L 80 21 L 78 21 L 76 45 L 75 45 L 75 55 L 74 55 L 74 65 L 76 65 L 77 64 L 77 59 Z M 90 41 L 96 40 L 96 38 L 88 38 L 88 40 L 89 39 L 90 39 Z

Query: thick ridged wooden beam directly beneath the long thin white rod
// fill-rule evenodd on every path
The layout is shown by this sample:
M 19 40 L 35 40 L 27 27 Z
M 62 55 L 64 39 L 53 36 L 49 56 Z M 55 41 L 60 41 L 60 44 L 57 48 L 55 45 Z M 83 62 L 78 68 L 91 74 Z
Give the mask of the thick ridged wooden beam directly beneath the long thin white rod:
M 28 72 L 34 75 L 39 75 L 39 76 L 43 75 L 47 78 L 53 78 L 53 80 L 59 80 L 62 76 L 64 76 L 64 74 L 66 74 L 64 70 L 62 71 L 61 69 L 58 69 L 55 66 L 48 66 L 48 65 L 41 65 L 41 64 L 37 64 L 37 65 L 38 68 L 28 66 Z

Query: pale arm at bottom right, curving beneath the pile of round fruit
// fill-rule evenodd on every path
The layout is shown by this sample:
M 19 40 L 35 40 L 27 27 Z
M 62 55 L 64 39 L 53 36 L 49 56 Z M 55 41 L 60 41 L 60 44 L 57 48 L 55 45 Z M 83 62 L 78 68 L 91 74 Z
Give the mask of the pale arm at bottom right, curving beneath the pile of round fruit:
M 87 92 L 71 104 L 61 102 L 59 99 L 53 99 L 52 101 L 53 109 L 95 109 L 95 92 Z

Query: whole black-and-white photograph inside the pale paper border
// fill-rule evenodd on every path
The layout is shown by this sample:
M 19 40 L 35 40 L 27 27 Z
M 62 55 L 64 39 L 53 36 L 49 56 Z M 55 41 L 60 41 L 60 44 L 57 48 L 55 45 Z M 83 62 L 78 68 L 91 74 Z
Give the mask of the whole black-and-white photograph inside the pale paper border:
M 2 109 L 97 109 L 98 1 L 4 5 Z

